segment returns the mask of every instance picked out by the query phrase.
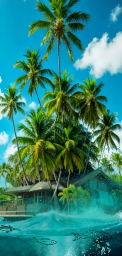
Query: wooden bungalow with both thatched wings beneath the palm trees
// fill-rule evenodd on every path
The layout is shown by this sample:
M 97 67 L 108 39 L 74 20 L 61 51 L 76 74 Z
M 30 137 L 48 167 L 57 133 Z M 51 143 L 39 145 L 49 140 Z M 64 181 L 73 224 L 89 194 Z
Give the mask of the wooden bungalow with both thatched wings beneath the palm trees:
M 122 209 L 122 201 L 118 201 L 117 191 L 122 191 L 122 187 L 109 178 L 102 168 L 97 170 L 91 169 L 87 174 L 75 175 L 71 174 L 69 184 L 81 186 L 91 194 L 92 205 L 98 205 L 109 211 L 119 206 Z M 67 186 L 67 177 L 62 177 L 58 187 L 58 193 Z M 56 184 L 52 183 L 54 191 Z M 50 200 L 53 194 L 48 182 L 39 182 L 36 185 L 17 187 L 8 189 L 5 194 L 16 195 L 17 203 L 11 211 L 21 212 L 43 212 L 48 211 Z M 1 206 L 2 207 L 2 206 Z M 119 208 L 118 207 L 118 208 Z M 0 209 L 1 210 L 1 209 Z M 1 210 L 2 211 L 2 210 Z M 10 205 L 9 205 L 10 211 Z

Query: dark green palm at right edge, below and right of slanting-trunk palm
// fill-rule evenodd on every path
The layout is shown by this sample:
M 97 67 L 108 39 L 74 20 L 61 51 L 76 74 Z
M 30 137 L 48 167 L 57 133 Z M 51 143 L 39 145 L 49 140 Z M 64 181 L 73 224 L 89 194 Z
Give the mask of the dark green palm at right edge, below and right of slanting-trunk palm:
M 99 129 L 94 132 L 94 136 L 97 136 L 94 142 L 98 144 L 98 149 L 101 150 L 99 163 L 101 157 L 103 157 L 105 146 L 113 146 L 114 149 L 117 150 L 117 146 L 114 140 L 117 141 L 118 144 L 120 144 L 120 138 L 117 134 L 114 133 L 114 131 L 116 131 L 117 129 L 120 130 L 121 125 L 116 124 L 115 122 L 116 114 L 110 114 L 110 110 L 107 110 L 100 118 L 100 121 L 97 123 L 97 127 Z

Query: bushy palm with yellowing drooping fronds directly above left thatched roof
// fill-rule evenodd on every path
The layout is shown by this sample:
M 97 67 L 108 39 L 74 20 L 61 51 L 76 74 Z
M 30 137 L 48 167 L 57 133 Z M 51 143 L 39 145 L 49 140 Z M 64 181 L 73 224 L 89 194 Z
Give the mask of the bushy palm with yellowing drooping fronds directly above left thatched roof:
M 24 132 L 24 136 L 18 137 L 18 143 L 21 146 L 22 158 L 28 157 L 26 162 L 26 170 L 33 170 L 33 175 L 36 178 L 40 177 L 40 171 L 43 170 L 45 179 L 52 176 L 52 170 L 55 169 L 53 161 L 53 153 L 56 151 L 55 146 L 49 141 L 50 133 L 46 133 L 51 126 L 51 121 L 46 121 L 40 107 L 37 112 L 30 110 L 25 119 L 25 124 L 18 126 L 18 131 Z M 13 139 L 12 143 L 16 143 Z M 35 172 L 35 174 L 34 174 Z M 42 171 L 41 171 L 42 174 Z

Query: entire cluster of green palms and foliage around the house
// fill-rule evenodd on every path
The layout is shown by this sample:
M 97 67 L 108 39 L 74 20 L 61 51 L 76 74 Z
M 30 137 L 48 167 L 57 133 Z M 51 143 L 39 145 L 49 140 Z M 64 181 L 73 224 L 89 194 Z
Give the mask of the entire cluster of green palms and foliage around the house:
M 113 165 L 103 158 L 106 147 L 112 146 L 117 151 L 120 139 L 116 131 L 121 129 L 120 124 L 116 123 L 116 114 L 106 109 L 107 98 L 102 95 L 104 84 L 97 84 L 95 79 L 90 78 L 83 83 L 75 83 L 67 70 L 61 71 L 61 46 L 67 46 L 72 62 L 72 45 L 83 51 L 76 32 L 85 28 L 83 23 L 88 22 L 90 16 L 74 10 L 78 2 L 49 0 L 48 8 L 37 1 L 36 9 L 42 13 L 43 20 L 31 23 L 29 35 L 36 30 L 46 31 L 45 38 L 41 38 L 41 45 L 47 45 L 45 56 L 41 58 L 39 50 L 34 48 L 31 51 L 28 48 L 24 60 L 17 60 L 14 64 L 23 74 L 15 80 L 14 86 L 8 86 L 4 96 L 0 96 L 1 113 L 6 114 L 13 123 L 15 138 L 12 143 L 16 148 L 14 155 L 8 157 L 8 163 L 0 166 L 0 176 L 5 177 L 12 186 L 48 181 L 52 189 L 55 181 L 54 199 L 63 177 L 67 188 L 59 194 L 60 201 L 64 204 L 66 201 L 68 210 L 69 202 L 74 202 L 76 211 L 76 202 L 89 198 L 88 193 L 80 187 L 69 186 L 76 175 L 85 175 L 91 171 L 93 164 L 101 164 L 109 174 L 114 172 L 114 166 L 119 173 L 122 168 L 120 154 L 112 155 Z M 55 43 L 58 45 L 58 74 L 45 68 L 45 61 Z M 31 97 L 36 93 L 40 105 L 37 110 L 31 109 L 24 123 L 18 125 L 17 131 L 21 132 L 21 136 L 16 132 L 15 115 L 18 112 L 25 114 L 25 103 L 22 94 L 18 93 L 18 84 L 20 90 L 28 86 Z M 48 91 L 47 84 L 50 86 Z M 39 86 L 45 89 L 43 99 L 38 93 Z

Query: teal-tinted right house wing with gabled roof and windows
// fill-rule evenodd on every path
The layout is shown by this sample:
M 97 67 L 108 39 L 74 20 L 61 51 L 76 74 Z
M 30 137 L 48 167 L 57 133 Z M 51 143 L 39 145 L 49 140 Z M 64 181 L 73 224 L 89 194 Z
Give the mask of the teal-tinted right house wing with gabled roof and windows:
M 61 179 L 61 184 L 66 186 L 67 178 Z M 106 211 L 116 208 L 122 210 L 122 198 L 118 200 L 117 193 L 122 192 L 122 186 L 109 178 L 100 167 L 97 170 L 91 170 L 83 175 L 71 177 L 69 184 L 81 186 L 91 194 L 93 206 L 101 206 Z

